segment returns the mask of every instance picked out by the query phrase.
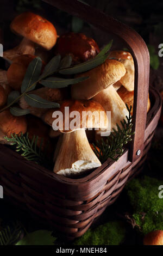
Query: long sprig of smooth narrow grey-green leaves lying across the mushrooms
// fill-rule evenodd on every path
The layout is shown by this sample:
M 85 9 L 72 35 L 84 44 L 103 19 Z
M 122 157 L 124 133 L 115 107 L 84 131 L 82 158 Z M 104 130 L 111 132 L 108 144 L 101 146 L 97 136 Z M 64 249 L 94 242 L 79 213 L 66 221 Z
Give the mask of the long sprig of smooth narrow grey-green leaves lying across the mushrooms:
M 29 109 L 21 109 L 20 107 L 12 107 L 17 103 L 22 96 L 27 101 L 29 106 L 37 108 L 55 108 L 60 107 L 59 103 L 51 102 L 42 99 L 41 97 L 34 95 L 32 92 L 37 83 L 42 84 L 48 88 L 64 88 L 70 84 L 75 84 L 86 80 L 89 77 L 78 77 L 78 78 L 65 78 L 59 77 L 60 75 L 75 75 L 82 72 L 96 68 L 96 66 L 101 65 L 106 58 L 109 56 L 109 50 L 112 45 L 112 40 L 106 45 L 97 56 L 87 62 L 80 63 L 78 65 L 71 66 L 72 58 L 71 56 L 66 56 L 61 60 L 61 56 L 57 55 L 53 57 L 49 63 L 45 66 L 42 74 L 42 60 L 36 57 L 28 65 L 26 75 L 24 76 L 21 94 L 17 91 L 11 92 L 8 96 L 8 105 L 0 110 L 4 111 L 10 108 L 10 112 L 13 115 L 20 116 L 24 114 L 29 114 Z

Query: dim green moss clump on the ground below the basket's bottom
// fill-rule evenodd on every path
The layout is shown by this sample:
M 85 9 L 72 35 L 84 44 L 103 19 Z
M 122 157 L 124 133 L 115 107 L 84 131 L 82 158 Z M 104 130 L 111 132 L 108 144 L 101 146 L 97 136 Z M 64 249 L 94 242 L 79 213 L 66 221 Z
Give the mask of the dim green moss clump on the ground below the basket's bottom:
M 126 229 L 121 221 L 110 221 L 89 229 L 74 245 L 120 245 L 126 235 Z

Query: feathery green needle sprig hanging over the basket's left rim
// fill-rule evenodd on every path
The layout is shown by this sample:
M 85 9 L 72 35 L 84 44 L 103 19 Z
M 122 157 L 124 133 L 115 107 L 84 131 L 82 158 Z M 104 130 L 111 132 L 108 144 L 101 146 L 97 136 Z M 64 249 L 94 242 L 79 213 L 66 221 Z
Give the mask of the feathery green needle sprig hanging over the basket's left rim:
M 16 152 L 21 153 L 21 156 L 23 156 L 28 161 L 34 161 L 35 163 L 39 164 L 44 164 L 51 161 L 47 153 L 49 147 L 48 143 L 45 147 L 45 150 L 42 151 L 43 138 L 41 139 L 39 147 L 37 146 L 37 141 L 39 137 L 34 135 L 33 138 L 30 140 L 28 132 L 25 135 L 23 135 L 23 133 L 21 133 L 20 136 L 12 134 L 11 138 L 8 138 L 7 136 L 5 136 L 4 138 L 11 145 L 15 145 Z

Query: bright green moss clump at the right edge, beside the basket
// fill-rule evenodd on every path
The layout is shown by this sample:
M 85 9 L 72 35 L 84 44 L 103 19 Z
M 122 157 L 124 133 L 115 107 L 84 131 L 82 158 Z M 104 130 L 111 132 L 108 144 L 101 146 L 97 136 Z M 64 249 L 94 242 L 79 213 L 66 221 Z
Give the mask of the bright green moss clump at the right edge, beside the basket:
M 133 217 L 143 234 L 163 229 L 163 198 L 159 198 L 159 186 L 163 181 L 144 176 L 133 179 L 126 187 Z

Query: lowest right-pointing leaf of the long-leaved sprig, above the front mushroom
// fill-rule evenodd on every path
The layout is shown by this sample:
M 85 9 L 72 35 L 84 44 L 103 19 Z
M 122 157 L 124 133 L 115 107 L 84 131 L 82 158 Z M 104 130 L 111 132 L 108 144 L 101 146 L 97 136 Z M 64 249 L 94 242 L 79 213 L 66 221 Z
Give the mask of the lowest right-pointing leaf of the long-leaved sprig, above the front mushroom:
M 59 103 L 51 102 L 45 99 L 42 99 L 40 96 L 36 94 L 25 94 L 24 99 L 28 103 L 29 106 L 37 107 L 37 108 L 59 108 Z

